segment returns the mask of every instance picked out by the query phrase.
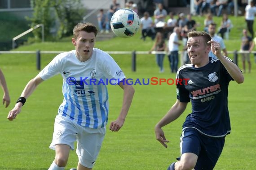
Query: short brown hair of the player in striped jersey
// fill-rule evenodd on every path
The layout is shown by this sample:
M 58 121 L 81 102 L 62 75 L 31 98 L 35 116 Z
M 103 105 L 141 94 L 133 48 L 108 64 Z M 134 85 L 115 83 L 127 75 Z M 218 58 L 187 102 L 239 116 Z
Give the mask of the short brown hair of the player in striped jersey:
M 94 33 L 95 34 L 95 37 L 98 33 L 98 30 L 97 30 L 97 27 L 94 26 L 92 23 L 90 22 L 87 22 L 87 23 L 81 23 L 79 22 L 73 29 L 73 35 L 74 35 L 74 38 L 76 39 L 78 37 L 78 34 L 80 31 L 85 31 L 85 32 L 88 32 L 88 33 Z

